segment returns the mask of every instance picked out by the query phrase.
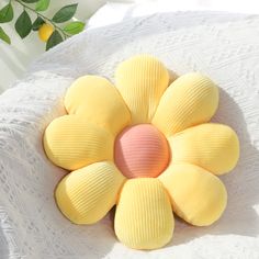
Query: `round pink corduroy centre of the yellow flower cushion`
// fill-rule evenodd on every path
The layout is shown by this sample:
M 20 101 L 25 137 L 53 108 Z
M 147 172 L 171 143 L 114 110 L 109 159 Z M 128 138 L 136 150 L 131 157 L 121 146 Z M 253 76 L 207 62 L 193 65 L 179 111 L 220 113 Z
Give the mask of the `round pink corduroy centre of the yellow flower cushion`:
M 127 178 L 157 177 L 169 160 L 167 139 L 150 124 L 126 127 L 115 139 L 114 154 L 117 168 Z

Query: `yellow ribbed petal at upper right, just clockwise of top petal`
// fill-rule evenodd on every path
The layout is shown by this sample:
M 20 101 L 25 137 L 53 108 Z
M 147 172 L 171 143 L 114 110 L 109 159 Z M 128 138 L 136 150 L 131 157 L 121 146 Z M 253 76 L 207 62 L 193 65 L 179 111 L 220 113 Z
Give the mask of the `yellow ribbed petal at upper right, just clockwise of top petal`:
M 217 87 L 198 72 L 179 77 L 161 97 L 153 119 L 165 135 L 209 122 L 218 105 Z

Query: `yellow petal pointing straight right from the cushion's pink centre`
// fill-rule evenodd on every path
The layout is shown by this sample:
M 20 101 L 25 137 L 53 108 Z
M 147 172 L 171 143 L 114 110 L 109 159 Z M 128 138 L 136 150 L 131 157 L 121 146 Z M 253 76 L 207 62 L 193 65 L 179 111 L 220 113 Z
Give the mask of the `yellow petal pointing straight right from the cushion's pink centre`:
M 215 174 L 230 171 L 239 157 L 239 142 L 228 126 L 205 123 L 169 138 L 171 160 L 200 166 Z

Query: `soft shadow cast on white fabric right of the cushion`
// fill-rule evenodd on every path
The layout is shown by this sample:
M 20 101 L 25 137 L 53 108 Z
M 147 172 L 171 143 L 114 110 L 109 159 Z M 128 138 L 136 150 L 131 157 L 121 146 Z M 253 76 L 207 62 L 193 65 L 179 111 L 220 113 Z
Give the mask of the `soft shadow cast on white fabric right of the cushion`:
M 228 192 L 226 211 L 216 223 L 207 227 L 191 226 L 176 218 L 173 238 L 168 246 L 182 245 L 204 235 L 247 237 L 259 235 L 258 214 L 254 209 L 254 205 L 259 204 L 259 174 L 257 172 L 259 150 L 251 144 L 247 124 L 238 104 L 222 89 L 219 108 L 213 122 L 232 126 L 237 132 L 240 142 L 240 157 L 236 168 L 221 177 Z

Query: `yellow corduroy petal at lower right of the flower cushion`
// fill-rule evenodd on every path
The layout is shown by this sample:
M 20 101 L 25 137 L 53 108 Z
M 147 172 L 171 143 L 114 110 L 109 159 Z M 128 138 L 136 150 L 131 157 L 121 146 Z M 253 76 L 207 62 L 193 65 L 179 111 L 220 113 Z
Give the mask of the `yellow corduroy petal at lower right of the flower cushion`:
M 202 168 L 188 164 L 171 165 L 159 180 L 171 196 L 173 211 L 192 225 L 211 225 L 226 207 L 224 184 Z

